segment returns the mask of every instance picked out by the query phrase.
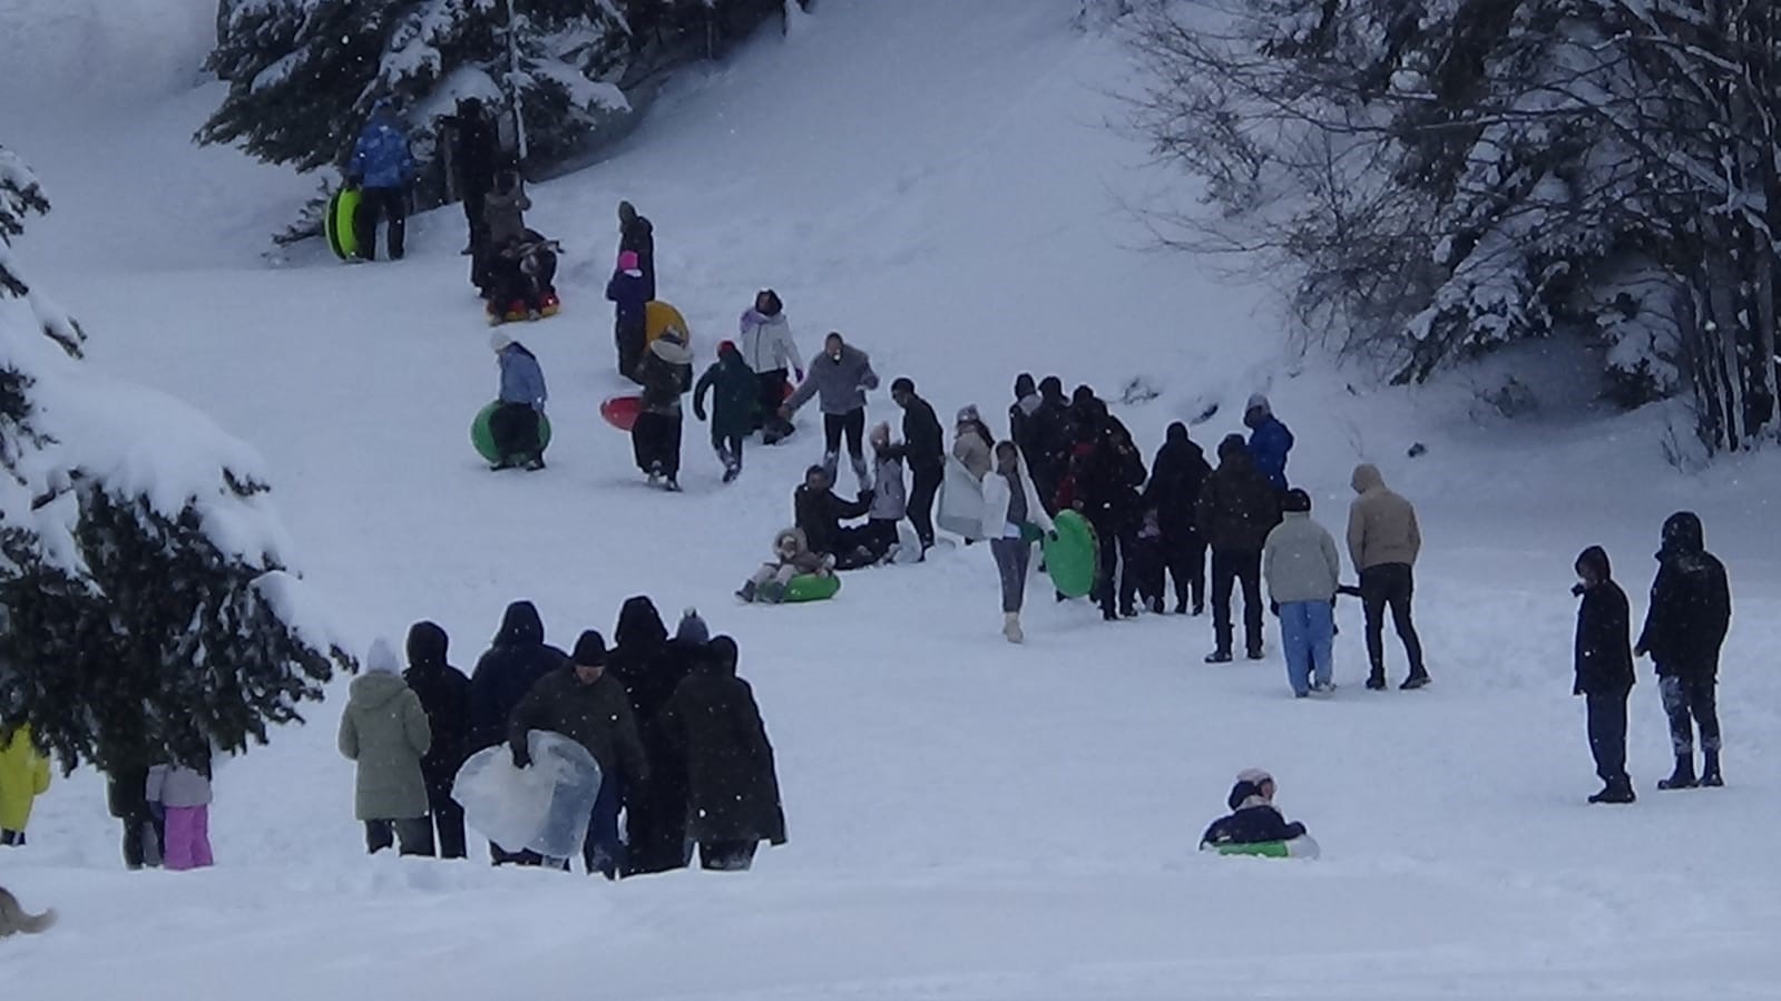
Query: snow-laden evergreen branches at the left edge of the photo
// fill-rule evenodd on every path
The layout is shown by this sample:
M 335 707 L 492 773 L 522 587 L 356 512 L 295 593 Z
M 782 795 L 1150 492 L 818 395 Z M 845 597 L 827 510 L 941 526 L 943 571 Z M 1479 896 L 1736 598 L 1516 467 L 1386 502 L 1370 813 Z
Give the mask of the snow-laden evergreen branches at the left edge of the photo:
M 48 208 L 0 148 L 0 725 L 66 768 L 264 743 L 351 661 L 281 566 L 251 451 L 78 360 L 11 251 Z

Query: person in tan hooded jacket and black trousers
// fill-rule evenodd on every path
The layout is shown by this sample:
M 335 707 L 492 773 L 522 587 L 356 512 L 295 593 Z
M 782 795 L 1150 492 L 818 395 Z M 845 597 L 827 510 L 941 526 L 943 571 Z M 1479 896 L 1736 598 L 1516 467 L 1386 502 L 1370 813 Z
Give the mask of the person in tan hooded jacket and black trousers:
M 1378 467 L 1354 467 L 1354 504 L 1348 508 L 1348 557 L 1361 574 L 1361 604 L 1366 607 L 1366 655 L 1371 673 L 1366 688 L 1386 688 L 1386 609 L 1411 659 L 1411 675 L 1400 688 L 1416 689 L 1428 684 L 1423 666 L 1423 641 L 1416 636 L 1411 618 L 1411 598 L 1416 593 L 1414 566 L 1423 549 L 1423 533 L 1416 525 L 1416 508 L 1386 488 Z

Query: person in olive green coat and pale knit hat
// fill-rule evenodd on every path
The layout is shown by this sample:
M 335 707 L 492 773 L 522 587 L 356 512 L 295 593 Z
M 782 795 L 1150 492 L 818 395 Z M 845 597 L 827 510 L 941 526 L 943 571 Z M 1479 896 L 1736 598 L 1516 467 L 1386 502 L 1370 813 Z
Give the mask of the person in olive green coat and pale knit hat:
M 340 714 L 340 753 L 358 762 L 354 816 L 365 821 L 365 846 L 378 853 L 401 841 L 403 855 L 433 855 L 427 782 L 420 757 L 433 746 L 426 709 L 399 673 L 395 648 L 378 639 L 365 673 L 353 679 Z

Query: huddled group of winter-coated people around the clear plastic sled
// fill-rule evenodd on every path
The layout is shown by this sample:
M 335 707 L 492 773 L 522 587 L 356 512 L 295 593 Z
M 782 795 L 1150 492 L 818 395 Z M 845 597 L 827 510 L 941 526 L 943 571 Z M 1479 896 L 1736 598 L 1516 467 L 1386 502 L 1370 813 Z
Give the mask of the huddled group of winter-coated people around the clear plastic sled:
M 753 689 L 736 675 L 736 641 L 711 638 L 691 609 L 670 636 L 654 602 L 634 597 L 611 648 L 586 631 L 565 654 L 545 641 L 538 609 L 515 602 L 470 677 L 447 648 L 443 629 L 417 623 L 406 671 L 378 641 L 353 680 L 340 753 L 358 766 L 354 812 L 370 851 L 463 859 L 459 768 L 495 746 L 531 766 L 533 730 L 579 743 L 600 766 L 582 850 L 590 873 L 686 867 L 695 846 L 707 869 L 746 869 L 760 841 L 785 841 L 773 746 Z M 490 855 L 568 867 L 524 846 L 492 842 Z

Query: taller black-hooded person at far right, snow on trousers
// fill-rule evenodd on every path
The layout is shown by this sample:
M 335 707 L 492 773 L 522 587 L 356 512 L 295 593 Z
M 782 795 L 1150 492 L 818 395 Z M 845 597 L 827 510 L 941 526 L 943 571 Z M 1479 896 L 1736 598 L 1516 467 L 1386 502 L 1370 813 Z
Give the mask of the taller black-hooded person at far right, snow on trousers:
M 1658 666 L 1658 691 L 1671 723 L 1676 771 L 1658 789 L 1724 785 L 1719 771 L 1719 650 L 1731 629 L 1731 586 L 1726 566 L 1706 552 L 1701 518 L 1678 511 L 1663 522 L 1658 575 L 1651 582 L 1646 629 L 1633 650 Z M 1701 728 L 1706 757 L 1701 778 L 1694 775 L 1694 728 Z

